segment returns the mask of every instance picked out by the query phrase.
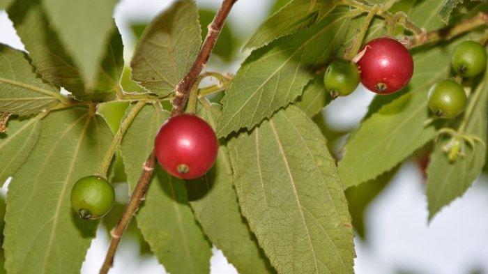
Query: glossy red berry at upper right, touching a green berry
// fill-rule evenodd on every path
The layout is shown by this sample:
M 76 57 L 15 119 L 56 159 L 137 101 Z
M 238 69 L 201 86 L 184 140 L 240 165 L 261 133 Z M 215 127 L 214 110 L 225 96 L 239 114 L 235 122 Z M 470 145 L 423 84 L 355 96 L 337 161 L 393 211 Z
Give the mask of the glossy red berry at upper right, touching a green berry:
M 378 94 L 390 94 L 409 84 L 413 75 L 413 59 L 402 43 L 391 38 L 377 38 L 363 46 L 365 48 L 358 66 L 361 83 L 367 89 Z M 384 91 L 376 89 L 379 83 L 386 84 Z

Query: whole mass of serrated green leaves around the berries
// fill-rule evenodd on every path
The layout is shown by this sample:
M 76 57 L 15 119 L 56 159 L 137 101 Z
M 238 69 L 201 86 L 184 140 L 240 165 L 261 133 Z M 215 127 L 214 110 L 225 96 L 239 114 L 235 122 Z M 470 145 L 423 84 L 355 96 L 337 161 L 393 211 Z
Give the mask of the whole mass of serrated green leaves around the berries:
M 455 8 L 457 1 L 449 0 L 371 4 L 378 3 L 404 11 L 427 30 L 486 7 Z M 119 146 L 132 190 L 155 133 L 169 118 L 164 102 L 201 46 L 197 6 L 176 1 L 142 33 L 130 63 L 139 92 L 124 93 L 123 45 L 112 20 L 115 4 L 0 1 L 29 52 L 0 45 L 0 111 L 13 115 L 8 131 L 0 133 L 0 181 L 13 176 L 3 233 L 8 273 L 79 271 L 97 222 L 77 218 L 69 192 L 78 178 L 96 173 L 118 126 L 108 125 L 96 104 L 147 102 Z M 479 37 L 473 31 L 413 50 L 415 73 L 409 86 L 373 100 L 336 165 L 328 136 L 315 123 L 330 102 L 320 72 L 343 54 L 364 20 L 363 10 L 351 11 L 342 1 L 289 1 L 245 44 L 252 52 L 222 105 L 200 100 L 197 114 L 220 137 L 215 166 L 188 182 L 157 167 L 136 216 L 144 240 L 167 271 L 208 273 L 213 244 L 239 273 L 353 273 L 352 224 L 363 231 L 365 204 L 401 162 L 436 137 L 439 125 L 425 125 L 427 91 L 448 77 L 453 47 Z M 383 36 L 385 26 L 374 18 L 366 39 Z M 397 34 L 404 36 L 404 29 Z M 466 123 L 464 133 L 485 142 L 487 82 L 485 75 L 468 83 L 472 111 L 452 123 Z M 70 95 L 61 95 L 61 87 Z M 466 146 L 463 159 L 449 162 L 441 151 L 445 142 L 434 145 L 427 172 L 430 218 L 462 195 L 485 164 L 481 146 Z

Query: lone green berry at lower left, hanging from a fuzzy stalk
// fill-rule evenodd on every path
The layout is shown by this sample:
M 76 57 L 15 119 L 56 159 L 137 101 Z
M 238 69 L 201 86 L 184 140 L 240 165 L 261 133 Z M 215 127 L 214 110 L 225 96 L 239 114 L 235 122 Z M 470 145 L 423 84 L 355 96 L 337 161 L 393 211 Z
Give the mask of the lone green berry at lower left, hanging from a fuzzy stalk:
M 98 219 L 114 205 L 114 187 L 99 176 L 79 179 L 71 189 L 71 206 L 82 219 Z

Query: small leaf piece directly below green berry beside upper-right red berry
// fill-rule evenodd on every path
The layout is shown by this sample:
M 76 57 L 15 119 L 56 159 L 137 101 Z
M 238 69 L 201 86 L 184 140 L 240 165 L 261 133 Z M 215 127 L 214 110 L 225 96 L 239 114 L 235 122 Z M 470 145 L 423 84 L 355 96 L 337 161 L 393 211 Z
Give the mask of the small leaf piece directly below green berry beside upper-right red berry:
M 328 105 L 331 98 L 323 86 L 323 75 L 317 75 L 310 81 L 310 83 L 303 89 L 302 96 L 295 102 L 294 105 L 303 109 L 303 111 L 309 116 L 313 117 L 315 114 L 321 112 L 321 110 Z

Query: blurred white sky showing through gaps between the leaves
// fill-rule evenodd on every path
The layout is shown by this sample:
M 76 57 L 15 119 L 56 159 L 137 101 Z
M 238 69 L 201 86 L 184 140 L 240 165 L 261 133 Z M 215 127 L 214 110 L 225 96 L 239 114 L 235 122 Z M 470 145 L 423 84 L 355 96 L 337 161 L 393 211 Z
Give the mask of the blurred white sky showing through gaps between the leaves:
M 128 22 L 147 21 L 169 0 L 122 0 L 116 8 L 116 22 L 126 45 L 125 59 L 130 59 L 133 38 Z M 200 7 L 217 7 L 220 0 L 197 1 Z M 239 36 L 249 37 L 264 20 L 272 1 L 240 0 L 234 6 L 229 24 Z M 0 12 L 0 43 L 23 49 L 6 14 Z M 241 59 L 226 66 L 235 72 Z M 326 120 L 336 130 L 356 126 L 365 114 L 372 93 L 359 89 L 352 96 L 338 98 L 324 110 Z M 413 163 L 407 163 L 369 206 L 367 229 L 369 242 L 356 239 L 357 274 L 468 274 L 473 269 L 488 273 L 488 183 L 482 178 L 462 199 L 444 208 L 427 225 L 427 203 L 422 176 Z M 118 190 L 124 193 L 126 190 Z M 115 259 L 112 274 L 164 273 L 154 257 L 139 259 L 138 243 L 124 239 Z M 83 274 L 98 273 L 107 248 L 107 234 L 101 229 L 87 254 Z M 181 262 L 185 264 L 185 262 Z M 222 253 L 214 248 L 211 272 L 236 273 Z M 259 274 L 259 273 L 258 273 Z

